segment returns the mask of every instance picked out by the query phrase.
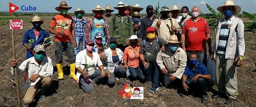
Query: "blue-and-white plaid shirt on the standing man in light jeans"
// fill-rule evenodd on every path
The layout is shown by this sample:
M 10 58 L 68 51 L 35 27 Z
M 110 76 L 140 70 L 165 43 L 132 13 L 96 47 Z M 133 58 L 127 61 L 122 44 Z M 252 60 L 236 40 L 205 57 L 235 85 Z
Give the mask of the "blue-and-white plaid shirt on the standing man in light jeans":
M 85 36 L 85 25 L 87 20 L 82 18 L 82 20 L 79 20 L 77 16 L 73 17 L 73 22 L 75 24 L 75 36 L 76 37 L 82 37 Z

